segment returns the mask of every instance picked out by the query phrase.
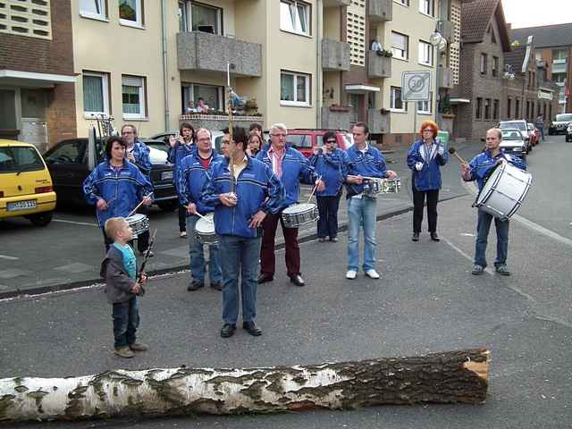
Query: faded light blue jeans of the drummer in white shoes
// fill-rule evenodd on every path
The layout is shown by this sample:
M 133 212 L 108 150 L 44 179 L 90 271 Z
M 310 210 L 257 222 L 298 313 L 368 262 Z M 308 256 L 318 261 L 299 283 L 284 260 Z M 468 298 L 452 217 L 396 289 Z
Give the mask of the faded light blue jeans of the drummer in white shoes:
M 364 227 L 364 271 L 375 269 L 377 201 L 363 196 L 348 199 L 348 270 L 359 266 L 359 227 Z

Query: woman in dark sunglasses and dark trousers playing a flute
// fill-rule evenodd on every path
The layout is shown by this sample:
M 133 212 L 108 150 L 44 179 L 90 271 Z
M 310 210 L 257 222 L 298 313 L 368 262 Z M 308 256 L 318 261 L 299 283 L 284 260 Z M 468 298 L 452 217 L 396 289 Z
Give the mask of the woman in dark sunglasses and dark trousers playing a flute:
M 324 147 L 314 147 L 310 164 L 325 182 L 325 189 L 315 193 L 318 203 L 318 241 L 338 241 L 338 207 L 341 198 L 341 183 L 344 180 L 344 152 L 338 147 L 336 133 L 324 134 Z

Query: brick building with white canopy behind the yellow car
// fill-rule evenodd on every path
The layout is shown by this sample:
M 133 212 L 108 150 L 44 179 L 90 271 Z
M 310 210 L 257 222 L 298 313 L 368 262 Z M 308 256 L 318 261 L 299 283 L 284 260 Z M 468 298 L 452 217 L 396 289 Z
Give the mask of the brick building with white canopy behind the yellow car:
M 74 137 L 74 81 L 70 0 L 0 2 L 0 138 Z

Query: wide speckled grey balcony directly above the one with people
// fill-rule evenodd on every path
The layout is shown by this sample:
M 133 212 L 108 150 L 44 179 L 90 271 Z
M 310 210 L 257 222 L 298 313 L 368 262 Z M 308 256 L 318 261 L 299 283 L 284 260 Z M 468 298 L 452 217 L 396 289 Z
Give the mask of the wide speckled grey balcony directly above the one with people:
M 234 64 L 237 76 L 262 75 L 262 45 L 202 31 L 177 34 L 179 70 L 223 71 Z

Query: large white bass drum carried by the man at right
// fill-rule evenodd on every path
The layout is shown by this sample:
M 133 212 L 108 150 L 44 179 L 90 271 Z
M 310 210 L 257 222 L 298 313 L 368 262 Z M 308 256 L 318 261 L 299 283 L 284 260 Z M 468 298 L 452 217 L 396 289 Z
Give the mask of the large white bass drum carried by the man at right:
M 473 206 L 502 221 L 507 220 L 522 205 L 532 181 L 529 172 L 509 163 L 498 164 L 493 167 Z

